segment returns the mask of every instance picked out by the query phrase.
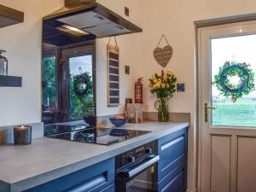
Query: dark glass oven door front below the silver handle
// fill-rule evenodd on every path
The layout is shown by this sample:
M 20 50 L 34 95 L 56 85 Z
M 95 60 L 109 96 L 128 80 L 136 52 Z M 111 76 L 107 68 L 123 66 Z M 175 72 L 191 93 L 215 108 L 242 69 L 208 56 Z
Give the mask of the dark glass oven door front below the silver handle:
M 156 192 L 157 166 L 153 165 L 126 183 L 126 192 Z

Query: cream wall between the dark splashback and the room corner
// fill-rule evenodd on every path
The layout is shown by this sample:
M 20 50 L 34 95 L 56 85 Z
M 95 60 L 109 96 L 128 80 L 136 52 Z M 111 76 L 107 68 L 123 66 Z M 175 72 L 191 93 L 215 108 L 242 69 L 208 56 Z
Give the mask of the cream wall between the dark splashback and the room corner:
M 141 8 L 137 0 L 99 0 L 98 3 L 114 10 L 118 15 L 131 20 L 137 26 L 141 26 Z M 130 8 L 130 17 L 124 14 L 125 7 Z M 119 107 L 107 106 L 107 44 L 109 38 L 96 40 L 96 96 L 97 115 L 124 113 L 125 98 L 134 97 L 134 83 L 138 78 L 138 66 L 140 66 L 141 33 L 118 36 L 117 42 L 120 51 L 120 102 Z M 111 40 L 114 44 L 114 39 Z M 131 74 L 125 74 L 125 66 L 130 66 Z

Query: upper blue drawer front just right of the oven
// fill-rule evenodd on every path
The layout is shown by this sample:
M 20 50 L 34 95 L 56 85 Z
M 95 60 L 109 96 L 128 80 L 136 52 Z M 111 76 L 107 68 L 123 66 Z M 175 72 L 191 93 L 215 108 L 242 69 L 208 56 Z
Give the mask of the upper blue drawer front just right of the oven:
M 177 166 L 187 161 L 187 140 L 187 129 L 174 132 L 159 139 L 159 182 L 176 169 Z

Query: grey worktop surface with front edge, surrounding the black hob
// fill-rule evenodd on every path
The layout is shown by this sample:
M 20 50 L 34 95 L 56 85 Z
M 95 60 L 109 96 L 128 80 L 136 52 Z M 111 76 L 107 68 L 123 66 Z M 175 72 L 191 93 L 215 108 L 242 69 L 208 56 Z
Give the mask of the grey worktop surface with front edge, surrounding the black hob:
M 189 123 L 186 122 L 128 124 L 122 128 L 152 132 L 111 146 L 46 137 L 34 139 L 32 145 L 28 146 L 1 146 L 0 191 L 17 192 L 31 189 L 188 126 Z

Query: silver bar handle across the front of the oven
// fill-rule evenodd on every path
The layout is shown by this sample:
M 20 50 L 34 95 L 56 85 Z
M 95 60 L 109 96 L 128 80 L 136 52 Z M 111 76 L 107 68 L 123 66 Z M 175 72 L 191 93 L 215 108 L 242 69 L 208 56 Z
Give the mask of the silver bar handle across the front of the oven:
M 133 164 L 131 166 L 126 167 L 124 170 L 121 170 L 119 172 L 120 177 L 125 178 L 131 178 L 139 174 L 140 172 L 143 172 L 145 169 L 147 169 L 150 166 L 153 166 L 154 163 L 160 160 L 159 155 L 157 154 L 151 154 L 148 157 L 146 157 L 142 163 Z

